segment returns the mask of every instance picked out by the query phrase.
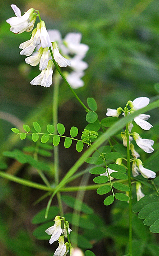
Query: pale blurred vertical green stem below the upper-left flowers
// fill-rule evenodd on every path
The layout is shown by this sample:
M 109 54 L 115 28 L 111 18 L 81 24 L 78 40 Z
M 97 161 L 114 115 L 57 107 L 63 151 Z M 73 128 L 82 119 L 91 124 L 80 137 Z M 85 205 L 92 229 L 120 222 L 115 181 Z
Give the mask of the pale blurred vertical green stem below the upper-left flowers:
M 57 134 L 57 123 L 58 123 L 58 100 L 59 100 L 59 85 L 60 85 L 60 76 L 58 73 L 55 74 L 55 83 L 53 87 L 53 104 L 52 104 L 52 120 L 53 126 L 55 127 L 55 134 Z M 55 168 L 55 184 L 59 184 L 59 146 L 54 148 L 54 168 Z M 57 192 L 57 201 L 60 208 L 61 216 L 64 216 L 62 208 L 62 200 L 60 192 Z

